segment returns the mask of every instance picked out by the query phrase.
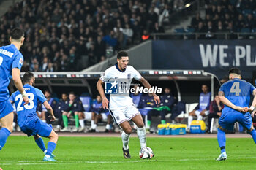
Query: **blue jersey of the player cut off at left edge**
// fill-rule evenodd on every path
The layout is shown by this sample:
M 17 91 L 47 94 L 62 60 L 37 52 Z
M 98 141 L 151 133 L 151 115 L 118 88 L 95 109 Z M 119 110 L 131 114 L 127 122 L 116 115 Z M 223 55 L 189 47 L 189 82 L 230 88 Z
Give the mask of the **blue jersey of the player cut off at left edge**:
M 9 98 L 8 85 L 12 78 L 12 69 L 20 69 L 23 65 L 23 55 L 15 45 L 0 47 L 0 102 Z

